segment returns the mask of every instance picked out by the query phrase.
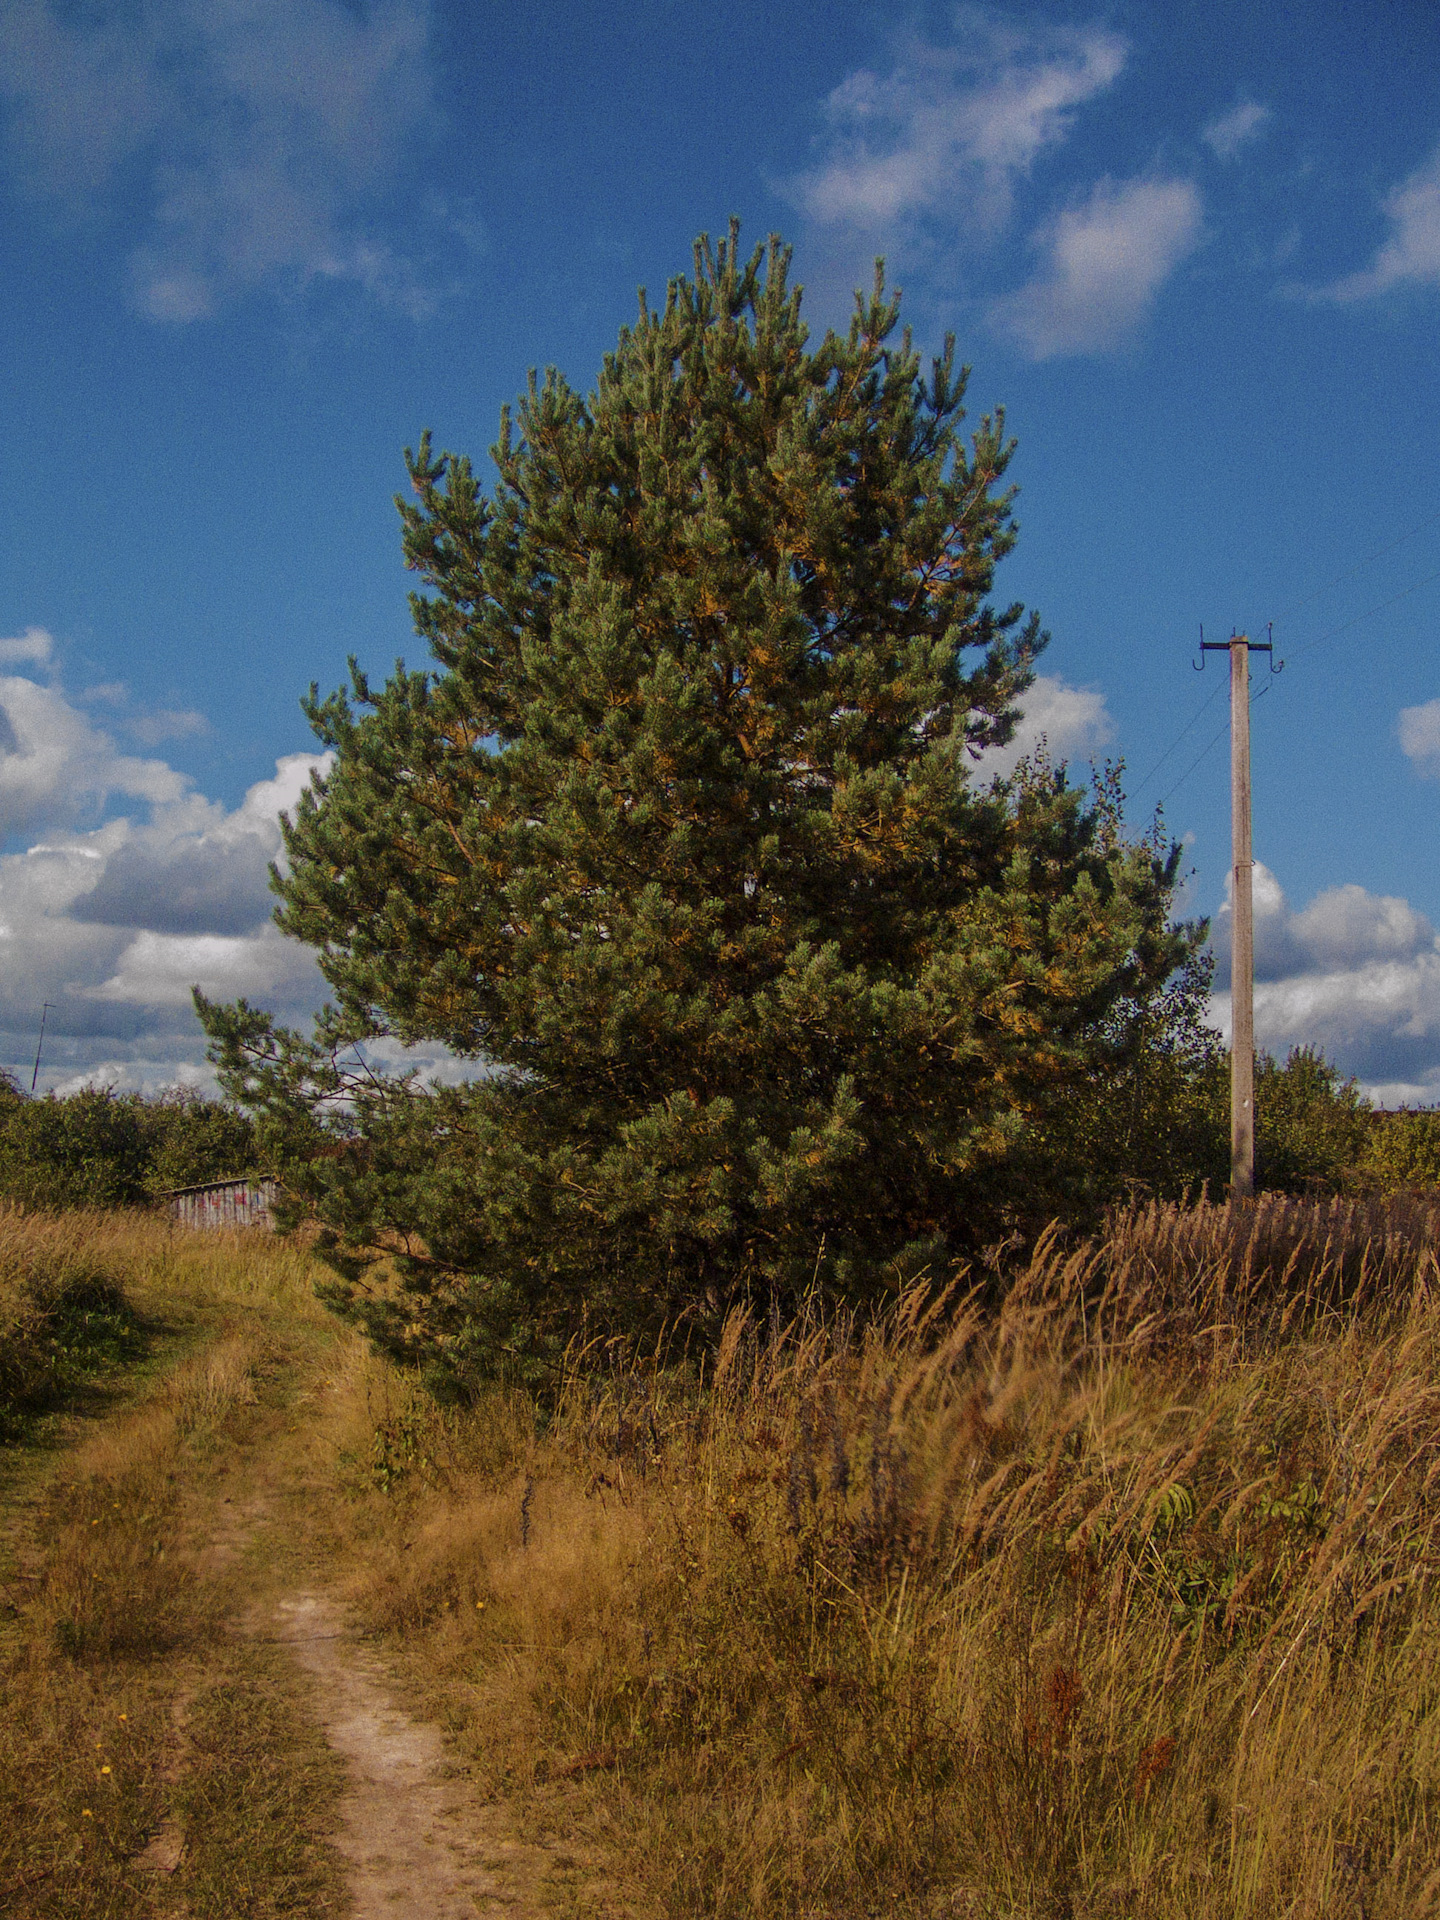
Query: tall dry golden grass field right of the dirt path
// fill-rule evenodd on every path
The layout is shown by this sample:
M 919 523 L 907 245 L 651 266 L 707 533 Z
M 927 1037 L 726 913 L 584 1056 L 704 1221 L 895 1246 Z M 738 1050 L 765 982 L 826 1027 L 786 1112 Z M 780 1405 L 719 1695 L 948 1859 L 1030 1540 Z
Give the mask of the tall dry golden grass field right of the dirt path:
M 639 1908 L 1436 1912 L 1436 1279 L 1421 1208 L 1150 1208 L 551 1419 L 369 1363 L 355 1592 Z

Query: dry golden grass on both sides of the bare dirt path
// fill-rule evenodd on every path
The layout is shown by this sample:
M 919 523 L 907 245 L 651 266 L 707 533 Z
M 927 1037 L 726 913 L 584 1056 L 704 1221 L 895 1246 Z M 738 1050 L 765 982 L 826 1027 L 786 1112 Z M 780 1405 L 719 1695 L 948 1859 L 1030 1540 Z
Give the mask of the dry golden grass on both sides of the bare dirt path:
M 334 1770 L 184 1538 L 275 1354 L 315 1379 L 303 1254 L 8 1217 L 0 1271 L 123 1281 L 173 1359 L 6 1576 L 0 1910 L 321 1910 Z M 334 1411 L 275 1411 L 334 1572 L 611 1907 L 1400 1920 L 1440 1912 L 1436 1283 L 1427 1204 L 1156 1206 L 998 1304 L 576 1354 L 553 1409 L 444 1411 L 342 1340 Z

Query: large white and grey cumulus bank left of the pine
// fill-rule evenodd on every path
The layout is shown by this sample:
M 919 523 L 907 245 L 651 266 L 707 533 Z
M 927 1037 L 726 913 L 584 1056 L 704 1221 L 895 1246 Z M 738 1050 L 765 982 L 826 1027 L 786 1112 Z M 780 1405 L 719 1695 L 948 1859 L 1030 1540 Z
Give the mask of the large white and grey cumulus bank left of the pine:
M 63 687 L 0 676 L 0 1062 L 29 1085 L 44 1000 L 48 1085 L 196 1083 L 192 985 L 303 1020 L 323 981 L 275 927 L 267 881 L 280 812 L 323 764 L 288 755 L 227 808 L 121 753 Z

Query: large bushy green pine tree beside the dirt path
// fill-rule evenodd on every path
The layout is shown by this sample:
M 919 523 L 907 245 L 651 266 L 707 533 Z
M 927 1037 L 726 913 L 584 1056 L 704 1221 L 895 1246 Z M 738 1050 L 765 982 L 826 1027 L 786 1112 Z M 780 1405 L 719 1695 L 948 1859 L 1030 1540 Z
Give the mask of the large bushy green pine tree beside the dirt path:
M 589 396 L 532 374 L 490 492 L 407 455 L 432 664 L 311 689 L 276 877 L 334 1002 L 202 1002 L 336 1304 L 432 1377 L 941 1273 L 1192 947 L 1104 795 L 975 772 L 1044 643 L 989 601 L 1004 417 L 962 438 L 879 271 L 812 348 L 787 267 L 703 240 Z

